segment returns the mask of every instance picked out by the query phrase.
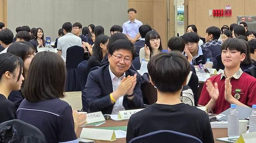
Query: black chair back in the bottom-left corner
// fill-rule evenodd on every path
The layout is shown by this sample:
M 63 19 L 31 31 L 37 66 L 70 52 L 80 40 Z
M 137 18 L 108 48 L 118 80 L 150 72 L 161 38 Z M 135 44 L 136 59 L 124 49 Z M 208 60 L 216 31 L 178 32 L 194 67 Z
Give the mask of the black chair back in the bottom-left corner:
M 0 143 L 46 143 L 46 138 L 37 127 L 19 119 L 0 124 Z

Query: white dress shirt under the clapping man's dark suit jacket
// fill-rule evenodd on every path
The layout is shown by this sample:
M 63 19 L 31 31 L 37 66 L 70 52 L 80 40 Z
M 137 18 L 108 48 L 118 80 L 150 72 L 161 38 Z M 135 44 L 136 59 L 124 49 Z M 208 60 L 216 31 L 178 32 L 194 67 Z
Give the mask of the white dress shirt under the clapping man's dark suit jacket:
M 118 86 L 121 83 L 121 80 L 123 78 L 125 78 L 125 72 L 124 74 L 118 78 L 114 75 L 114 73 L 111 72 L 110 70 L 110 66 L 109 66 L 109 73 L 110 73 L 110 77 L 112 80 L 112 87 L 113 87 L 113 92 L 116 91 L 118 89 Z M 123 100 L 124 100 L 124 96 L 119 97 L 119 99 L 116 100 L 116 103 L 113 106 L 113 110 L 111 114 L 118 114 L 119 111 L 124 111 L 124 106 L 123 106 Z

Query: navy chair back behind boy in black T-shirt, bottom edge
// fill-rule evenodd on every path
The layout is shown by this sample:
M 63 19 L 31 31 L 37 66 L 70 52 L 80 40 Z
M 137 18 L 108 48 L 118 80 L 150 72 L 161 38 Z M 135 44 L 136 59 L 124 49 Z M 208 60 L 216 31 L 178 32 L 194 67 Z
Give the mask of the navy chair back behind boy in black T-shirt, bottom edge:
M 202 143 L 202 141 L 189 134 L 159 130 L 133 138 L 129 143 Z

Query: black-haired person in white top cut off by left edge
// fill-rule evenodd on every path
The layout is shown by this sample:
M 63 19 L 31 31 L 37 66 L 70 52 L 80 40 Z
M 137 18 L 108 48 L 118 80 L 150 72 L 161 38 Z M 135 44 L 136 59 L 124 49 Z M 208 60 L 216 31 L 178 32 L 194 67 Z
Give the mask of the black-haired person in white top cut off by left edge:
M 4 48 L 4 50 L 2 50 L 0 54 L 6 53 L 8 47 L 12 44 L 12 40 L 13 33 L 10 29 L 4 29 L 0 31 L 0 44 Z

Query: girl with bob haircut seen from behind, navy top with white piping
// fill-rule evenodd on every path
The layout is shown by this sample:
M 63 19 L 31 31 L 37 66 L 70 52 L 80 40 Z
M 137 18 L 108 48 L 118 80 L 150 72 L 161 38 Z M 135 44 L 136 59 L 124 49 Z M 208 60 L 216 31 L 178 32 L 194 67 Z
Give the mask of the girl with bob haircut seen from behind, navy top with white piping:
M 65 96 L 65 79 L 65 63 L 58 54 L 43 51 L 35 55 L 17 118 L 40 129 L 47 143 L 78 143 L 71 106 L 60 99 Z

